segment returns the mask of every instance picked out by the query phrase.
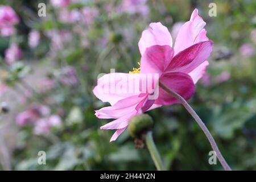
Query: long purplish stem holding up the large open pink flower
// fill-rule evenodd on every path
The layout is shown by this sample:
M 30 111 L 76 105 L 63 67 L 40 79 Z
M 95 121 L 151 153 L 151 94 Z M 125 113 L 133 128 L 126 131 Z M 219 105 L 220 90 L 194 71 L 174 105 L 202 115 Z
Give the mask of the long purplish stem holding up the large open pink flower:
M 214 138 L 212 137 L 212 134 L 210 134 L 210 131 L 207 129 L 207 127 L 205 126 L 204 122 L 199 118 L 199 116 L 192 109 L 192 107 L 188 104 L 188 102 L 183 97 L 181 97 L 178 93 L 174 92 L 174 90 L 171 90 L 171 89 L 167 88 L 167 86 L 162 84 L 161 82 L 159 82 L 159 86 L 162 89 L 164 89 L 167 93 L 169 93 L 170 95 L 174 96 L 177 100 L 179 100 L 181 102 L 181 104 L 185 107 L 185 109 L 187 109 L 189 114 L 192 115 L 192 117 L 196 120 L 197 124 L 204 131 L 204 134 L 207 136 L 207 138 L 208 138 L 208 140 L 210 142 L 210 145 L 212 146 L 213 150 L 216 152 L 217 158 L 218 158 L 218 160 L 220 160 L 220 163 L 221 163 L 222 167 L 226 171 L 232 171 L 232 169 L 229 167 L 228 163 L 226 163 L 226 160 L 222 156 L 220 150 L 218 149 L 218 146 L 217 146 Z

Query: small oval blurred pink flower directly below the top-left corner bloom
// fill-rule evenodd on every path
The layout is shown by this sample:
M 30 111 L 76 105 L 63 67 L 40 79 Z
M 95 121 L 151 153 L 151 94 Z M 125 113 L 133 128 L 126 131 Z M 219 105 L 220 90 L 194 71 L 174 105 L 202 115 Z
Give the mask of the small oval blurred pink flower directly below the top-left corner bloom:
M 11 44 L 5 51 L 5 61 L 8 64 L 14 63 L 22 57 L 22 50 L 16 45 Z

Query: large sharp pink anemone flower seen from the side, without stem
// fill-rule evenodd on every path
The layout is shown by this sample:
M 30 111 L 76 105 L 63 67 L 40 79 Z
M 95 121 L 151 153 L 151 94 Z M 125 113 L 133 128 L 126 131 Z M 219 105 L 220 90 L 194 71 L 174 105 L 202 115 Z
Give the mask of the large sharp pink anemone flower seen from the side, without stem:
M 162 105 L 179 103 L 176 98 L 158 88 L 158 81 L 179 93 L 185 100 L 191 98 L 196 82 L 204 75 L 209 64 L 207 59 L 213 48 L 213 42 L 206 36 L 205 24 L 195 9 L 191 19 L 181 26 L 172 48 L 172 37 L 167 27 L 160 22 L 151 23 L 150 28 L 143 31 L 138 44 L 142 55 L 141 68 L 135 69 L 133 73 L 139 74 L 110 73 L 98 79 L 93 93 L 111 106 L 96 110 L 96 117 L 115 119 L 101 127 L 116 130 L 110 142 L 117 139 L 135 115 Z M 146 92 L 142 92 L 142 77 L 148 74 L 151 77 L 146 80 L 153 80 L 152 90 L 147 88 Z M 152 78 L 152 74 L 158 77 Z M 130 75 L 138 75 L 139 89 L 127 89 L 134 84 L 134 77 Z M 150 98 L 155 92 L 158 92 L 158 97 Z

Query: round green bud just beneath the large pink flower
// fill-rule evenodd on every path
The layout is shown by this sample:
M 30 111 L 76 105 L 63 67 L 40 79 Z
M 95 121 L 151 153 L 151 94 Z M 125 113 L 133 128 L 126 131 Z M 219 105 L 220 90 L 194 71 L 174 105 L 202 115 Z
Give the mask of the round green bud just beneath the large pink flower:
M 140 114 L 131 118 L 128 131 L 132 137 L 140 138 L 154 126 L 153 119 L 148 114 Z

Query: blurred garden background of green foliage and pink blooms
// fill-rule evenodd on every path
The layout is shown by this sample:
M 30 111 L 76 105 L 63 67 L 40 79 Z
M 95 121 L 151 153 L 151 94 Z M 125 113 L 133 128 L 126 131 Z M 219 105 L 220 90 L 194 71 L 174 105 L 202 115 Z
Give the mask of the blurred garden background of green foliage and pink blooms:
M 39 3 L 46 16 L 39 17 Z M 217 16 L 209 16 L 216 3 Z M 108 106 L 92 89 L 99 73 L 129 72 L 151 22 L 175 38 L 197 8 L 214 41 L 207 72 L 189 103 L 233 169 L 256 169 L 256 1 L 0 0 L 0 169 L 154 170 L 127 131 L 109 143 Z M 42 11 L 43 13 L 43 11 Z M 39 12 L 40 14 L 40 12 Z M 5 17 L 7 19 L 4 19 Z M 181 105 L 149 111 L 168 170 L 218 170 L 210 144 Z M 38 152 L 46 151 L 46 165 Z

